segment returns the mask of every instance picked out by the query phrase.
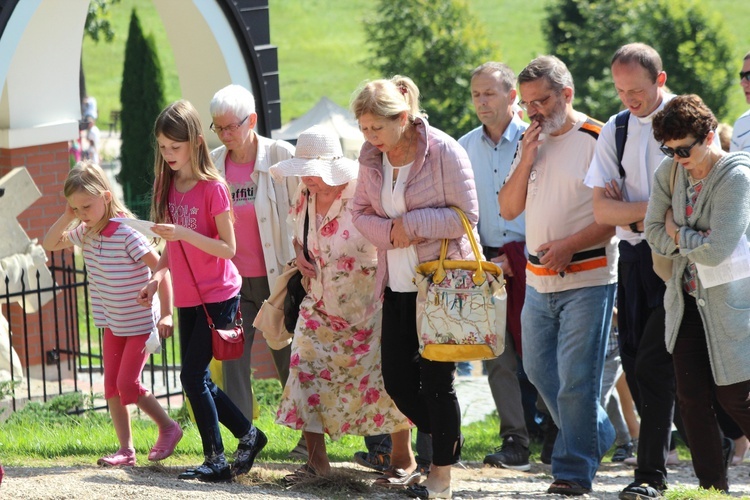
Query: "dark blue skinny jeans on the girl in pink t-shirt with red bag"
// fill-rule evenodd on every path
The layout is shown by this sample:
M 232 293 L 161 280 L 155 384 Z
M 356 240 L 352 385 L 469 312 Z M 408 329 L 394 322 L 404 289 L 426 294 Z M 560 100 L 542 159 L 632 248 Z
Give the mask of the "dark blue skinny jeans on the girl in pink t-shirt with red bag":
M 224 302 L 206 304 L 206 309 L 218 328 L 225 328 L 234 319 L 238 308 L 239 300 L 236 297 Z M 182 354 L 180 381 L 193 409 L 195 425 L 203 443 L 203 454 L 213 457 L 224 453 L 219 422 L 236 438 L 247 434 L 252 428 L 252 423 L 211 380 L 211 372 L 208 369 L 213 357 L 211 329 L 208 327 L 203 307 L 180 307 L 177 309 L 177 317 Z

